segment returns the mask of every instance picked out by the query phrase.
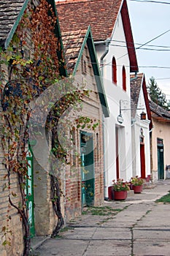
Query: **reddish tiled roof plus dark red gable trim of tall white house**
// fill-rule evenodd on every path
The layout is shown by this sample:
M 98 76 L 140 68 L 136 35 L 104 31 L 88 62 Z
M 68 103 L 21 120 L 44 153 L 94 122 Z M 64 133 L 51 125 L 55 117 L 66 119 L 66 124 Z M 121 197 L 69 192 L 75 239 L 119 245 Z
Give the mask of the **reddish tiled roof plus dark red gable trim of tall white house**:
M 88 29 L 90 25 L 94 41 L 104 41 L 111 37 L 117 16 L 120 13 L 123 19 L 131 72 L 138 71 L 126 0 L 67 0 L 56 1 L 55 4 L 61 34 Z

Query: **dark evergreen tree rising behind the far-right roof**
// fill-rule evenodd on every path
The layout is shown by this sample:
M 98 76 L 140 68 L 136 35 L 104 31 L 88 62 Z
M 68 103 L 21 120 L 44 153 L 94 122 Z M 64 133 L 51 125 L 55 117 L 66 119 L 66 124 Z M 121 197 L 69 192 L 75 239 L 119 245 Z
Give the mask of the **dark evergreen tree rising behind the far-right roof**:
M 166 100 L 166 94 L 163 94 L 161 89 L 159 89 L 158 84 L 155 81 L 155 78 L 150 78 L 147 89 L 150 94 L 150 99 L 152 99 L 153 102 L 155 102 L 162 108 L 169 110 L 169 104 L 167 103 Z

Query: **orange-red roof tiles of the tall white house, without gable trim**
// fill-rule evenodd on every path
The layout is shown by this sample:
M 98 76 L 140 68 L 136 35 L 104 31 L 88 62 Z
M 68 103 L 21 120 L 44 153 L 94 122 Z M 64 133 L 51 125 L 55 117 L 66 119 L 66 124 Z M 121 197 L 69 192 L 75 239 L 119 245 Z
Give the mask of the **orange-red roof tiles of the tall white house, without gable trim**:
M 61 32 L 87 29 L 90 25 L 94 41 L 100 41 L 111 36 L 122 0 L 69 0 L 55 4 Z

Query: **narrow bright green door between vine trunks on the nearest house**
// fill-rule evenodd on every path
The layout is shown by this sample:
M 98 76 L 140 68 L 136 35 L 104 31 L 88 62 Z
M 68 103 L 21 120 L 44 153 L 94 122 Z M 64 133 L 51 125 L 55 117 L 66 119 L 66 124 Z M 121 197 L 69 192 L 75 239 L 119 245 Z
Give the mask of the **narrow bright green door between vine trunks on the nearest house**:
M 26 181 L 26 199 L 28 208 L 28 222 L 30 225 L 31 237 L 35 235 L 34 227 L 34 171 L 33 171 L 33 154 L 31 149 L 27 155 L 28 160 L 28 178 Z

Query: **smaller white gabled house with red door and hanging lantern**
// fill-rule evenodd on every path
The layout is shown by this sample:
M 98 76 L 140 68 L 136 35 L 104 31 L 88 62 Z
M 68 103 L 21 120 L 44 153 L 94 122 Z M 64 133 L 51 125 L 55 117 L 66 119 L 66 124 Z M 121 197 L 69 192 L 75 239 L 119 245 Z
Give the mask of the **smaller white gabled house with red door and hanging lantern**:
M 149 181 L 152 121 L 143 73 L 131 75 L 131 120 L 133 176 Z

